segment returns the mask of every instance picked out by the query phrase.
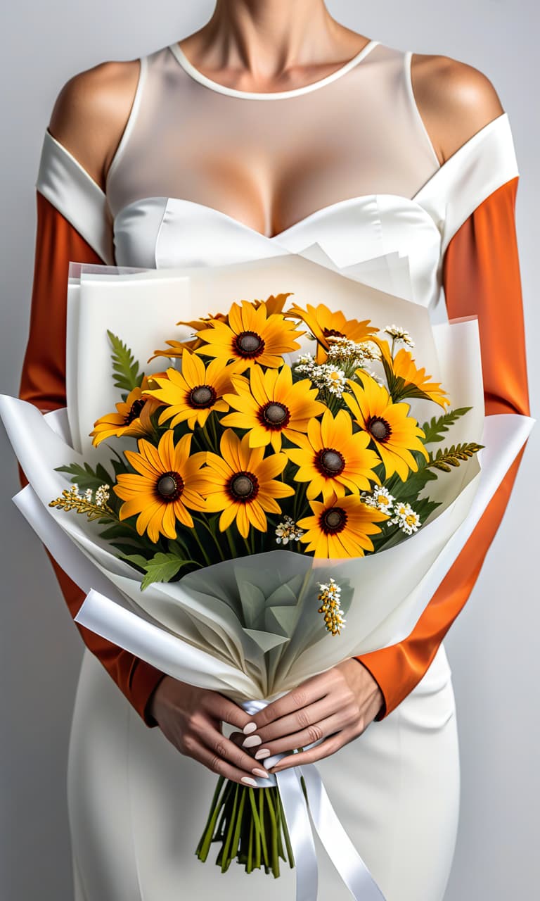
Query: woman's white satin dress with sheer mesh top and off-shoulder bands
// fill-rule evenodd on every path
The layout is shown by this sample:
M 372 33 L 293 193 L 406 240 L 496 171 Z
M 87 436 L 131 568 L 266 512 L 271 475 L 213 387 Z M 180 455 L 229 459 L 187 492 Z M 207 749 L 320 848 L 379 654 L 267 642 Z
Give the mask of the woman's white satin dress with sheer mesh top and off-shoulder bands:
M 444 319 L 448 241 L 518 169 L 506 114 L 440 166 L 414 100 L 410 55 L 370 41 L 329 77 L 251 94 L 211 81 L 171 45 L 141 59 L 106 191 L 49 133 L 37 187 L 111 264 L 208 266 L 314 242 L 340 267 L 399 252 L 409 258 L 410 299 Z M 311 163 L 320 160 L 320 177 L 313 165 L 293 171 L 306 147 Z M 270 160 L 292 173 L 280 215 L 291 212 L 294 221 L 272 237 L 247 224 L 247 158 L 262 180 Z M 401 705 L 318 767 L 387 901 L 441 901 L 460 791 L 443 645 Z M 276 882 L 236 865 L 221 875 L 196 860 L 215 781 L 148 729 L 85 651 L 68 765 L 76 901 L 293 901 L 289 870 Z M 319 898 L 347 897 L 320 850 Z

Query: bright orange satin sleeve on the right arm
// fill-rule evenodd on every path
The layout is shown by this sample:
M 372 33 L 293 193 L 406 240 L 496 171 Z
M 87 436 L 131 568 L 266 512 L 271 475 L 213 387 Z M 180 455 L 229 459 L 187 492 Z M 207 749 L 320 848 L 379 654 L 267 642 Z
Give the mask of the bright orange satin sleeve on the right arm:
M 515 177 L 487 197 L 455 233 L 444 259 L 448 318 L 478 316 L 486 414 L 529 414 L 515 223 L 517 189 Z M 509 502 L 522 455 L 523 450 L 410 636 L 357 658 L 383 692 L 377 720 L 392 713 L 419 683 L 471 594 Z

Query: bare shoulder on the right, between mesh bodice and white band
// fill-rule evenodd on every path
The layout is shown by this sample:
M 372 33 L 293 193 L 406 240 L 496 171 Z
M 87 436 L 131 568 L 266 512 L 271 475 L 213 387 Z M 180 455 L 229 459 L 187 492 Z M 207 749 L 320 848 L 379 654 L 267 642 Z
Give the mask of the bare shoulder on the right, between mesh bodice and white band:
M 441 162 L 504 113 L 490 78 L 459 59 L 413 53 L 410 74 L 419 113 Z

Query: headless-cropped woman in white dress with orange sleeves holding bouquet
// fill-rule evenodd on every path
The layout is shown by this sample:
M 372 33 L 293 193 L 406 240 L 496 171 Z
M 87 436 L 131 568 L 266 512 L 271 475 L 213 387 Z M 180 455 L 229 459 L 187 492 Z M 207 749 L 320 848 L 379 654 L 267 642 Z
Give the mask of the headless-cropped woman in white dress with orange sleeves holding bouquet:
M 368 40 L 323 0 L 217 0 L 198 32 L 90 69 L 58 96 L 38 178 L 21 396 L 65 405 L 69 260 L 210 265 L 318 241 L 340 265 L 408 253 L 414 299 L 434 318 L 444 303 L 451 318 L 479 317 L 487 413 L 527 414 L 517 184 L 508 119 L 475 68 Z M 441 899 L 459 798 L 441 642 L 517 469 L 406 641 L 347 660 L 253 719 L 81 629 L 92 653 L 69 760 L 77 901 L 293 897 L 290 874 L 277 885 L 239 868 L 221 877 L 193 848 L 211 773 L 248 782 L 265 757 L 319 739 L 279 768 L 320 761 L 388 901 Z M 75 615 L 82 595 L 55 569 Z M 222 723 L 237 730 L 230 739 Z M 320 897 L 348 896 L 324 862 L 320 882 Z

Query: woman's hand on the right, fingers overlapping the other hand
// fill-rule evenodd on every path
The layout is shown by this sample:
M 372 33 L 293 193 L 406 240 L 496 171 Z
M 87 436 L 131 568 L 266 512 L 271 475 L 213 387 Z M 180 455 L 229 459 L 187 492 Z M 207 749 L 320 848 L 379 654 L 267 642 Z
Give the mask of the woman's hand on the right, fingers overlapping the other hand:
M 273 701 L 252 717 L 257 728 L 247 725 L 241 739 L 237 733 L 231 738 L 255 751 L 256 760 L 320 742 L 309 751 L 288 754 L 269 769 L 275 773 L 322 760 L 352 742 L 374 720 L 383 700 L 369 670 L 359 660 L 344 660 Z

